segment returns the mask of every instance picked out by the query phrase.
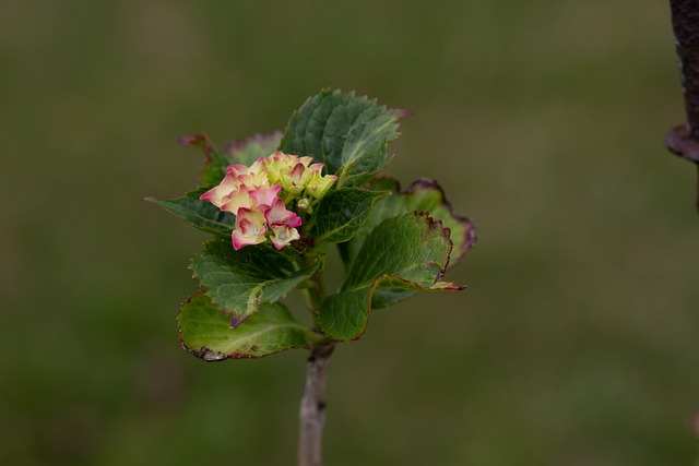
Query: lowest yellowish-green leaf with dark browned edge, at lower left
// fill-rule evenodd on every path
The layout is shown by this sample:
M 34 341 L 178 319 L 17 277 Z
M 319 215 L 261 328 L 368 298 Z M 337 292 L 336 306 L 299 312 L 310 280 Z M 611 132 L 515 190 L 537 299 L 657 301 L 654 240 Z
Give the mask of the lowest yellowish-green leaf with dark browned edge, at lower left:
M 236 328 L 230 315 L 199 294 L 182 304 L 177 316 L 185 349 L 204 361 L 261 358 L 292 348 L 308 348 L 310 328 L 294 320 L 281 303 L 262 304 L 261 311 Z

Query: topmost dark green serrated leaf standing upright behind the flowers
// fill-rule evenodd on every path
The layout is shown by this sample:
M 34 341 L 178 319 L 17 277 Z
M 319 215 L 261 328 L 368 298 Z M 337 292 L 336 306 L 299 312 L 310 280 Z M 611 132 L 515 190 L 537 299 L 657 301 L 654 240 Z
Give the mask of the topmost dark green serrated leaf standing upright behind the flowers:
M 354 93 L 323 91 L 292 116 L 280 148 L 322 162 L 329 174 L 341 171 L 339 187 L 356 186 L 389 163 L 388 142 L 406 115 Z

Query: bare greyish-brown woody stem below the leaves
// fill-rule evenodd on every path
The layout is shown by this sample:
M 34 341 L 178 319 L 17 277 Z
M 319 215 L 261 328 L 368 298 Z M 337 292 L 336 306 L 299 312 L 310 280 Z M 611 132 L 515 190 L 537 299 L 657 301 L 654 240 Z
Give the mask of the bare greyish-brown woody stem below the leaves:
M 298 411 L 298 466 L 322 465 L 325 375 L 333 348 L 333 343 L 316 346 L 308 357 L 306 386 Z

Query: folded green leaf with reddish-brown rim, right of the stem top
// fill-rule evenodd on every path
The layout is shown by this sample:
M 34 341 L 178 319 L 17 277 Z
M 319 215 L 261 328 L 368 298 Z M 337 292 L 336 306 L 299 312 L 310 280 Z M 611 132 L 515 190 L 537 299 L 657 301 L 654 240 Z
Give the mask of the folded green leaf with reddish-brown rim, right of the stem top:
M 440 282 L 451 252 L 449 230 L 425 213 L 410 213 L 380 223 L 364 241 L 356 261 L 335 295 L 322 303 L 320 327 L 335 340 L 362 336 L 372 295 L 391 290 L 457 290 Z

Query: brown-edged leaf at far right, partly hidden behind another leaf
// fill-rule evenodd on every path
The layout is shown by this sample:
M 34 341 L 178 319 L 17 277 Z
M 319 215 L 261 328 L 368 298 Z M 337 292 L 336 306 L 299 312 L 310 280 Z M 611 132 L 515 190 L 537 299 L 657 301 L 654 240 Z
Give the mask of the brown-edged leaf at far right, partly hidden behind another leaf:
M 341 244 L 341 253 L 345 265 L 352 266 L 362 246 L 374 228 L 387 218 L 408 212 L 428 212 L 429 216 L 440 220 L 445 228 L 449 228 L 453 251 L 449 268 L 463 260 L 463 256 L 476 242 L 475 226 L 469 217 L 454 214 L 451 204 L 445 196 L 445 191 L 433 180 L 419 179 L 407 190 L 401 191 L 400 184 L 392 178 L 377 178 L 367 186 L 369 190 L 388 190 L 393 195 L 380 199 L 363 228 L 352 241 Z

